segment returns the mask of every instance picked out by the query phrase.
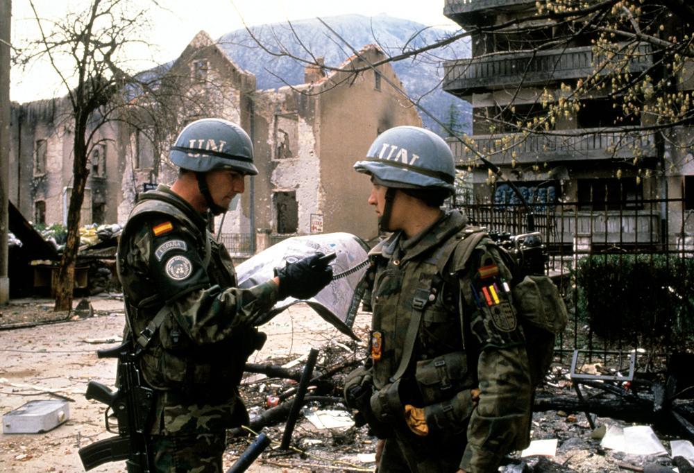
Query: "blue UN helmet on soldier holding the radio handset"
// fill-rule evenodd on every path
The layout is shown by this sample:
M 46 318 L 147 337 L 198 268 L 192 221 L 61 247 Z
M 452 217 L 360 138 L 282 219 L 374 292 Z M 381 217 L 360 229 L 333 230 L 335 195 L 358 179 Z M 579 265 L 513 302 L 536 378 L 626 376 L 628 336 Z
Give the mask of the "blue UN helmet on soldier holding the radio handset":
M 244 175 L 258 173 L 251 138 L 243 128 L 223 119 L 189 123 L 171 146 L 170 157 L 176 166 L 198 173 L 213 169 L 233 169 Z

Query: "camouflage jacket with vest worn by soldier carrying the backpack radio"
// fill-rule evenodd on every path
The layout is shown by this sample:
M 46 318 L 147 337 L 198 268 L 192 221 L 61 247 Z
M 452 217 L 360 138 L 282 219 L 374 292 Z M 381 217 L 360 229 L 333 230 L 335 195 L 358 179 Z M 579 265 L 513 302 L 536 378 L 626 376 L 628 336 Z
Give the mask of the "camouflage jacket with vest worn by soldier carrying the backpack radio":
M 445 270 L 437 266 L 443 249 L 455 248 L 452 240 L 473 232 L 453 211 L 409 241 L 396 233 L 371 251 L 370 404 L 400 435 L 414 435 L 403 406 L 424 408 L 432 445 L 466 429 L 460 467 L 489 472 L 508 451 L 527 446 L 531 388 L 500 250 L 479 234 L 464 261 L 452 252 Z

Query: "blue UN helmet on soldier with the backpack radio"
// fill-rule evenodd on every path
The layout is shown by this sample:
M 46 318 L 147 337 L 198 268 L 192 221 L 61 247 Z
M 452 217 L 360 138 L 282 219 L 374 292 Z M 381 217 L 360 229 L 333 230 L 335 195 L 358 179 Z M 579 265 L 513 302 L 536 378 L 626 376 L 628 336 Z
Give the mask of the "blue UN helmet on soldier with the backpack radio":
M 385 187 L 455 191 L 455 162 L 443 138 L 416 126 L 396 126 L 371 144 L 366 160 L 354 169 Z

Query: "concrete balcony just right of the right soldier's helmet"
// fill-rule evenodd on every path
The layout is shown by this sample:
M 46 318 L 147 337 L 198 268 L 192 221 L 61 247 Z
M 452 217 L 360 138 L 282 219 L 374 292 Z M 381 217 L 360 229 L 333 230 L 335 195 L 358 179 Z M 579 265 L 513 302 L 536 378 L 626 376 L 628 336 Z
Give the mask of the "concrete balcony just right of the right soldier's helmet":
M 545 135 L 509 133 L 507 135 L 474 135 L 472 145 L 486 159 L 497 165 L 510 165 L 513 153 L 516 163 L 561 162 L 583 160 L 629 159 L 634 150 L 642 157 L 655 157 L 653 135 L 629 128 L 582 128 L 561 130 Z M 455 138 L 446 138 L 456 164 L 467 166 L 476 155 Z

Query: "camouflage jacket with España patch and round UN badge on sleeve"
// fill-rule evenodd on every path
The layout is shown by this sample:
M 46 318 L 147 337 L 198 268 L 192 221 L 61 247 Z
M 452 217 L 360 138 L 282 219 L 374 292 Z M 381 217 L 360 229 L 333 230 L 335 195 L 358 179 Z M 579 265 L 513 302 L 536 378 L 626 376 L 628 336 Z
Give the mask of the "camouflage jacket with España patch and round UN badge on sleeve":
M 276 302 L 277 286 L 236 288 L 228 252 L 207 225 L 160 185 L 141 196 L 119 241 L 128 326 L 146 344 L 140 367 L 158 393 L 151 433 L 219 431 L 247 419 L 237 386 L 246 359 L 264 342 L 251 322 Z

